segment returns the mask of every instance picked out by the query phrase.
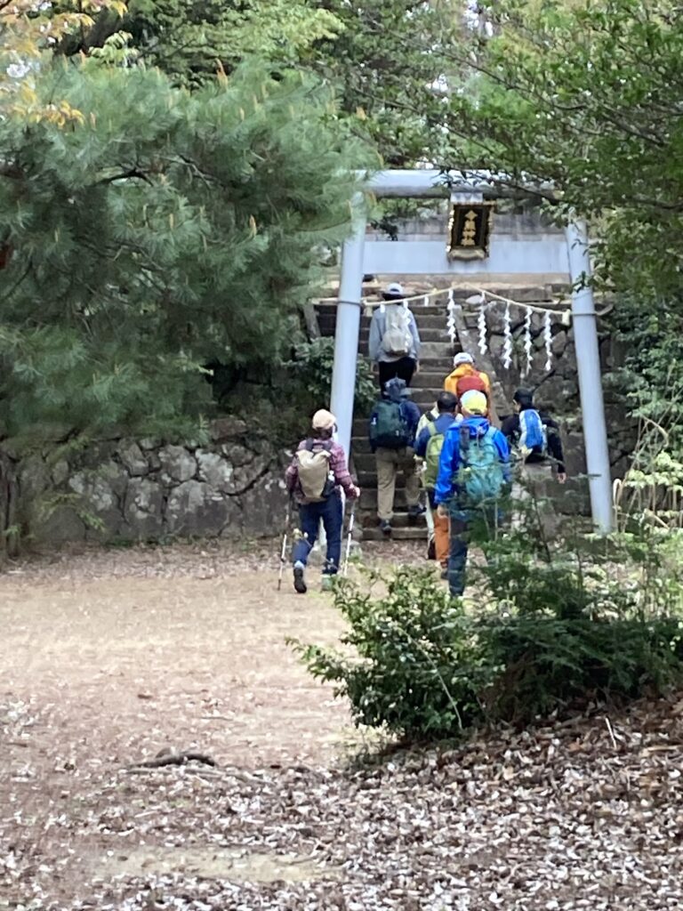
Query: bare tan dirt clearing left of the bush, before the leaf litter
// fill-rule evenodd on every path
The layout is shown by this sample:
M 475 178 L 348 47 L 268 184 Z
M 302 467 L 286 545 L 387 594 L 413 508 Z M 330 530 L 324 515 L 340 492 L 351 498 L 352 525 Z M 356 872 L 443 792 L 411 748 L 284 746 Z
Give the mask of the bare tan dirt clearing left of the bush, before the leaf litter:
M 174 747 L 262 766 L 338 751 L 348 713 L 285 642 L 336 639 L 329 597 L 297 597 L 289 578 L 278 595 L 275 569 L 248 558 L 188 556 L 114 555 L 107 573 L 94 555 L 0 577 L 2 698 L 40 713 L 16 763 L 130 763 Z

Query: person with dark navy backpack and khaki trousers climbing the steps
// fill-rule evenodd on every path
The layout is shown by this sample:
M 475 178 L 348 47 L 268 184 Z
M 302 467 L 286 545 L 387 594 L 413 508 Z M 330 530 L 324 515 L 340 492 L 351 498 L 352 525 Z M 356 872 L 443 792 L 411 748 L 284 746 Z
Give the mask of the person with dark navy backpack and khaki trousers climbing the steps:
M 420 409 L 408 400 L 409 395 L 405 380 L 394 377 L 384 387 L 382 399 L 375 403 L 370 417 L 370 448 L 377 462 L 377 515 L 382 534 L 387 537 L 392 534 L 393 495 L 399 471 L 405 477 L 409 518 L 414 521 L 424 513 L 413 453 Z

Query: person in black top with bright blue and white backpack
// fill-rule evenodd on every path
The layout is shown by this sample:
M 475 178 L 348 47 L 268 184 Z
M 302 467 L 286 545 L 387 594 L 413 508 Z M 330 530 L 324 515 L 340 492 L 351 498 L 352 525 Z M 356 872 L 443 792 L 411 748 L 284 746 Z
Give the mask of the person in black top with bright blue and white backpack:
M 560 484 L 566 482 L 565 455 L 559 425 L 552 417 L 535 409 L 534 393 L 530 389 L 517 389 L 513 405 L 515 414 L 505 418 L 501 429 L 520 462 L 513 500 L 524 503 L 547 496 L 554 471 Z M 552 504 L 546 502 L 543 512 L 544 527 L 549 531 L 555 518 Z M 513 525 L 518 527 L 520 521 L 517 511 Z

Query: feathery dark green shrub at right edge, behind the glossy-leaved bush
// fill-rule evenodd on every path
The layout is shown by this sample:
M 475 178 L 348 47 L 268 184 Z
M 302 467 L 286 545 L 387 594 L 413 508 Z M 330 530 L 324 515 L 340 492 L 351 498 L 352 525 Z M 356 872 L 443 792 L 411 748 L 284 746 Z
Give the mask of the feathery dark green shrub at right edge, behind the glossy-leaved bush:
M 523 529 L 490 547 L 481 582 L 497 609 L 480 637 L 503 670 L 488 717 L 532 722 L 683 681 L 683 566 L 667 553 L 648 527 L 556 550 Z

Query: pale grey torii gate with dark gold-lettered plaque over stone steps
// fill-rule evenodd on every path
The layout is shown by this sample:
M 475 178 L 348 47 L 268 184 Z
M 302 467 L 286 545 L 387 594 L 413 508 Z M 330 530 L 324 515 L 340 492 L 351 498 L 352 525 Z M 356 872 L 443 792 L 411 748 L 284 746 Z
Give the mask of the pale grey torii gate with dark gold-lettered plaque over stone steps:
M 434 197 L 451 193 L 454 200 L 482 200 L 500 196 L 500 190 L 484 179 L 481 183 L 444 182 L 443 171 L 385 170 L 367 180 L 366 190 L 378 197 Z M 607 449 L 607 425 L 603 400 L 600 355 L 597 345 L 596 310 L 587 279 L 591 274 L 584 221 L 566 226 L 565 239 L 557 241 L 491 240 L 485 260 L 449 260 L 443 241 L 374 241 L 365 247 L 367 214 L 363 194 L 352 202 L 353 233 L 342 249 L 342 278 L 337 304 L 337 328 L 332 369 L 331 409 L 337 417 L 339 439 L 351 449 L 353 397 L 355 393 L 358 338 L 361 326 L 362 277 L 366 273 L 466 275 L 489 273 L 568 272 L 572 281 L 574 343 L 581 396 L 588 486 L 596 530 L 607 534 L 613 528 L 612 483 Z

